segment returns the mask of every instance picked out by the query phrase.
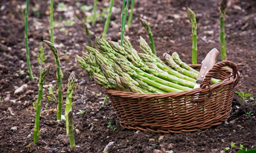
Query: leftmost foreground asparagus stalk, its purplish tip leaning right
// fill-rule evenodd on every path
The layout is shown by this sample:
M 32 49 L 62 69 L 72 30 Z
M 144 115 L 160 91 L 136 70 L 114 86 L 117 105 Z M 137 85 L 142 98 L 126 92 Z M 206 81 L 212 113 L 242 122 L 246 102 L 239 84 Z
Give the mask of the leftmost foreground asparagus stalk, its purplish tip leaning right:
M 40 111 L 41 111 L 41 100 L 42 100 L 42 94 L 43 94 L 43 84 L 45 83 L 45 78 L 49 73 L 50 66 L 51 66 L 50 64 L 47 65 L 40 72 L 38 98 L 37 98 L 37 111 L 35 115 L 34 140 L 33 140 L 34 143 L 38 141 L 38 137 L 39 137 L 39 119 L 40 119 Z

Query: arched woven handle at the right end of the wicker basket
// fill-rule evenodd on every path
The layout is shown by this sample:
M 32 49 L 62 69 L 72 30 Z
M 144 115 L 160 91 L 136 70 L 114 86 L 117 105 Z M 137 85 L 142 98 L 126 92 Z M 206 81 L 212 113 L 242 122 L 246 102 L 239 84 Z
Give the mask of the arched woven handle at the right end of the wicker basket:
M 203 82 L 201 84 L 201 88 L 205 88 L 206 86 L 210 86 L 211 78 L 217 73 L 217 71 L 219 71 L 222 67 L 225 67 L 225 66 L 228 66 L 233 70 L 228 78 L 234 76 L 234 79 L 235 79 L 235 77 L 237 77 L 237 75 L 235 75 L 235 74 L 238 73 L 238 66 L 235 63 L 231 62 L 231 61 L 222 61 L 222 62 L 219 62 L 219 63 L 215 64 L 213 66 L 213 68 L 206 74 L 205 79 L 203 80 Z

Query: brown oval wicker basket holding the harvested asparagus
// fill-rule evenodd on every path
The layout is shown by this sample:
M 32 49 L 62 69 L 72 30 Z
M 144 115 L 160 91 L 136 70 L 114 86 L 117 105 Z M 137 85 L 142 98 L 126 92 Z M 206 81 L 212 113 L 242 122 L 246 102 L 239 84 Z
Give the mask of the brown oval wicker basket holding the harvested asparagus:
M 196 70 L 201 68 L 201 65 L 190 66 Z M 210 85 L 211 77 L 223 81 Z M 239 78 L 238 66 L 222 61 L 209 71 L 201 88 L 190 91 L 165 94 L 106 92 L 124 128 L 158 133 L 192 132 L 220 125 L 229 118 Z

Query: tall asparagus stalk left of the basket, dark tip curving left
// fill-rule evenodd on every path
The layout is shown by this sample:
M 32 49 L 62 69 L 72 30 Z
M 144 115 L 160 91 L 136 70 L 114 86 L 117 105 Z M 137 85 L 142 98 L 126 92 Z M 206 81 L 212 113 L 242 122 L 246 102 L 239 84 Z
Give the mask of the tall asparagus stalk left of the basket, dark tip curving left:
M 57 120 L 61 120 L 61 112 L 62 112 L 62 87 L 61 87 L 61 67 L 59 61 L 59 52 L 58 49 L 54 46 L 50 41 L 44 40 L 44 42 L 49 46 L 51 51 L 53 52 L 53 56 L 55 58 L 55 63 L 57 67 L 57 79 L 58 79 L 58 106 L 57 106 Z

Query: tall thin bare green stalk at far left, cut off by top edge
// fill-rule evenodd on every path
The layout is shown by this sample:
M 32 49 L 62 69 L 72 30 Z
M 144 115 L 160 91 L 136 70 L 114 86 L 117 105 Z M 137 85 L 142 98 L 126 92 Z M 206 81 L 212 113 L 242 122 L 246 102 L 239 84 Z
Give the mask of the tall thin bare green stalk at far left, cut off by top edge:
M 29 77 L 31 80 L 34 80 L 32 70 L 31 70 L 31 65 L 30 65 L 30 56 L 29 56 L 29 41 L 28 41 L 28 36 L 27 36 L 27 28 L 28 28 L 28 23 L 27 20 L 29 18 L 29 0 L 26 1 L 26 15 L 25 15 L 25 47 L 26 47 L 26 57 L 27 57 L 27 68 L 29 70 Z

